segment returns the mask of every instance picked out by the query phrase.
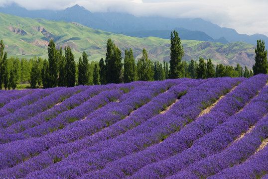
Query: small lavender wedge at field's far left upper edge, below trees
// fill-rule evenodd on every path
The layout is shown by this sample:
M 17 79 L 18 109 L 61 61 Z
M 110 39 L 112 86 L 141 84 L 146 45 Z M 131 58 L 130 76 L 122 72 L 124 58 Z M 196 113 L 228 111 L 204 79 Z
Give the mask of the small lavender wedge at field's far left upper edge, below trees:
M 1 94 L 0 108 L 3 107 L 5 104 L 8 104 L 12 100 L 19 99 L 20 97 L 28 95 L 36 90 L 38 90 L 38 89 L 25 89 L 25 90 L 17 90 L 17 91 L 8 90 L 8 91 L 12 91 L 12 92 L 9 92 L 6 94 Z

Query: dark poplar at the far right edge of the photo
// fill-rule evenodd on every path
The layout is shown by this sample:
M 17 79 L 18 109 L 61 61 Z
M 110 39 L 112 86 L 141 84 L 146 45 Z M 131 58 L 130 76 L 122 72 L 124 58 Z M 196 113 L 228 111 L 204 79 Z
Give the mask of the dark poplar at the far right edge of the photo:
M 257 40 L 257 48 L 255 48 L 255 64 L 252 67 L 254 75 L 267 74 L 267 50 L 265 50 L 265 42 Z

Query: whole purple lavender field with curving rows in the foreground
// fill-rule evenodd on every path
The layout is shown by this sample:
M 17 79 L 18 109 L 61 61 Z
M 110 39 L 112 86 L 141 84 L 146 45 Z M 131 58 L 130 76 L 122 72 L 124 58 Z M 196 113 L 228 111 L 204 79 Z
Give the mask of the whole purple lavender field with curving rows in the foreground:
M 268 75 L 0 91 L 0 179 L 268 179 Z

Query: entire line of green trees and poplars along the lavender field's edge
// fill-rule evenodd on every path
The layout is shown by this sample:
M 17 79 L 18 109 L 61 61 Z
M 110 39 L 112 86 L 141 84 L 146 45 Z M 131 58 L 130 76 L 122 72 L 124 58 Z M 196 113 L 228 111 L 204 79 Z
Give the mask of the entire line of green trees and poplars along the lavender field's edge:
M 160 63 L 152 62 L 145 49 L 137 61 L 134 59 L 130 48 L 125 50 L 122 58 L 121 50 L 107 40 L 107 52 L 105 59 L 99 62 L 88 61 L 88 55 L 83 52 L 78 63 L 74 61 L 71 48 L 56 49 L 51 39 L 48 44 L 48 60 L 42 58 L 18 59 L 10 57 L 4 52 L 3 41 L 0 41 L 0 89 L 15 89 L 19 83 L 29 83 L 31 88 L 42 86 L 74 87 L 76 85 L 105 85 L 110 83 L 130 83 L 134 81 L 161 81 L 165 79 L 192 78 L 207 79 L 214 77 L 245 77 L 249 78 L 259 73 L 268 73 L 267 50 L 264 41 L 257 41 L 255 49 L 255 65 L 253 71 L 246 66 L 237 64 L 214 65 L 211 59 L 193 59 L 190 63 L 182 61 L 184 55 L 178 33 L 174 30 L 170 35 L 170 61 Z

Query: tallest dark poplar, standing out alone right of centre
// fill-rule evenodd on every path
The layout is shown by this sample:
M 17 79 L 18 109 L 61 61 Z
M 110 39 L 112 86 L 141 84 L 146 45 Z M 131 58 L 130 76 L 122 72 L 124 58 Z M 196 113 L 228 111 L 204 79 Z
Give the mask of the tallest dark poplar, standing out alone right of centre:
M 181 63 L 183 55 L 184 51 L 178 37 L 178 32 L 174 30 L 170 35 L 170 79 L 183 77 L 183 64 Z

